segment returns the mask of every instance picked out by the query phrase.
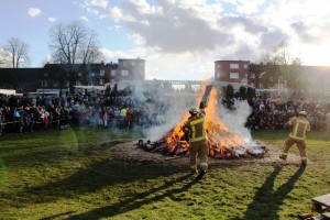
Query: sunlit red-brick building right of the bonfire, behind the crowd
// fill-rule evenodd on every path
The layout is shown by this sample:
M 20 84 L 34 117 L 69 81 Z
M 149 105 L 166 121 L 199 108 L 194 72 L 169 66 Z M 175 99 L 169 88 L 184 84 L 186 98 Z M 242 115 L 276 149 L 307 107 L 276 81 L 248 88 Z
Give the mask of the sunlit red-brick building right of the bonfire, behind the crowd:
M 215 80 L 239 82 L 258 91 L 287 91 L 298 97 L 329 97 L 330 67 L 215 62 Z

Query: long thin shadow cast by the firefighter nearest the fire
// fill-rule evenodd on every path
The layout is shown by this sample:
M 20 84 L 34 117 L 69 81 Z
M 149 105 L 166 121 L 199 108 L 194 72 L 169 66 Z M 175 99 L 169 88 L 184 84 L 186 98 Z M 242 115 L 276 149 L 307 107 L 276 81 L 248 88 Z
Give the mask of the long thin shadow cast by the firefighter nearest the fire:
M 138 194 L 134 197 L 125 199 L 118 204 L 101 207 L 98 209 L 94 209 L 94 210 L 85 212 L 85 213 L 72 216 L 68 218 L 68 220 L 110 218 L 110 217 L 118 216 L 120 213 L 124 213 L 128 211 L 132 211 L 134 209 L 139 209 L 142 206 L 160 201 L 160 200 L 164 199 L 165 197 L 169 197 L 173 200 L 177 200 L 175 195 L 186 191 L 196 182 L 191 180 L 188 184 L 183 185 L 180 188 L 170 188 L 170 187 L 184 182 L 185 179 L 188 179 L 189 177 L 190 177 L 190 175 L 184 175 L 180 178 L 167 182 L 157 188 L 152 188 L 148 191 Z M 160 194 L 160 191 L 162 191 L 162 190 L 165 190 L 165 191 L 163 194 Z

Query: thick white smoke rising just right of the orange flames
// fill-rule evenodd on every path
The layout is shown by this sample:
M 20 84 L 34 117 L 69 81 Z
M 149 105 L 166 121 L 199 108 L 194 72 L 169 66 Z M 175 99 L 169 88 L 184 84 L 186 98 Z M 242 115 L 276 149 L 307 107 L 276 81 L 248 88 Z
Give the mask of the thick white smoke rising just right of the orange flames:
M 235 134 L 241 136 L 249 145 L 255 145 L 251 136 L 251 131 L 245 128 L 246 120 L 252 112 L 252 109 L 248 101 L 235 100 L 234 110 L 230 111 L 222 105 L 219 107 L 219 116 L 223 123 Z

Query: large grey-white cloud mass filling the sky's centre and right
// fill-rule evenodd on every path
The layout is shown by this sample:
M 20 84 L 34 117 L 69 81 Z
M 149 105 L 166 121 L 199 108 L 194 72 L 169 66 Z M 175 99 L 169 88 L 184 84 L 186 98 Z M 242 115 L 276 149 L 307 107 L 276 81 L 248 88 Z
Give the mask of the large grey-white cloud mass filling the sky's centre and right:
M 111 2 L 99 18 L 134 45 L 103 50 L 108 59 L 141 57 L 148 78 L 201 79 L 213 76 L 215 61 L 261 62 L 283 41 L 304 64 L 330 65 L 329 8 L 328 0 L 128 0 Z

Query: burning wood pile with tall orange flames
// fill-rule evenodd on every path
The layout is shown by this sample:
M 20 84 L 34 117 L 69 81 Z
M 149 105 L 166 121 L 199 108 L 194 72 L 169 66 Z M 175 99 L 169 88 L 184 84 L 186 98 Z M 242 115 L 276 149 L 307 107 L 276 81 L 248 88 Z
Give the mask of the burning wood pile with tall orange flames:
M 206 108 L 206 132 L 209 145 L 209 156 L 213 158 L 249 158 L 263 157 L 265 146 L 260 146 L 253 141 L 246 143 L 241 136 L 231 131 L 218 117 L 216 109 L 216 94 L 211 96 L 211 88 L 207 87 L 201 102 L 210 105 Z M 210 97 L 210 100 L 209 100 Z M 205 105 L 207 106 L 207 105 Z M 180 157 L 189 154 L 189 143 L 185 141 L 183 125 L 188 119 L 188 113 L 184 120 L 174 129 L 164 134 L 155 142 L 139 140 L 138 146 L 150 152 L 163 153 L 166 156 Z

